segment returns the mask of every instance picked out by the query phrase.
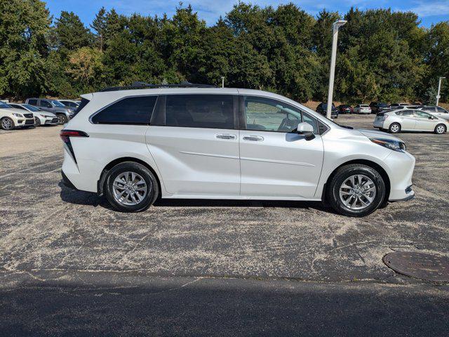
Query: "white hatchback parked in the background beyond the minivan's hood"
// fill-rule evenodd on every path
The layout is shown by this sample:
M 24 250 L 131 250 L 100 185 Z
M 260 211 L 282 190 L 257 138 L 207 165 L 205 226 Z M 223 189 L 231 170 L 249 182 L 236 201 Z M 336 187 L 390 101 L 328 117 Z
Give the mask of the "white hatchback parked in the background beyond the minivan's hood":
M 373 126 L 391 133 L 399 131 L 432 131 L 445 133 L 449 122 L 421 110 L 390 110 L 377 114 Z

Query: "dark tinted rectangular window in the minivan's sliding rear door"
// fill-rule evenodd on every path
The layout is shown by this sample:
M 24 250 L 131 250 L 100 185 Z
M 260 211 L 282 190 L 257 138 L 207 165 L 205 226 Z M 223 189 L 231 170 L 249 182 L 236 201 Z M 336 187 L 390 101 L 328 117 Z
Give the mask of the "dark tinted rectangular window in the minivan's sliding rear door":
M 166 126 L 234 128 L 232 95 L 167 95 Z

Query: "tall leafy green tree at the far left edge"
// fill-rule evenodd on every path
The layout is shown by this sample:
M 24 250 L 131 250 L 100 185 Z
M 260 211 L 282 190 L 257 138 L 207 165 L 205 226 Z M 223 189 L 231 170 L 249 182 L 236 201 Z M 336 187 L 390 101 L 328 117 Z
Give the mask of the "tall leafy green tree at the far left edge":
M 38 0 L 0 1 L 0 95 L 45 91 L 49 13 Z

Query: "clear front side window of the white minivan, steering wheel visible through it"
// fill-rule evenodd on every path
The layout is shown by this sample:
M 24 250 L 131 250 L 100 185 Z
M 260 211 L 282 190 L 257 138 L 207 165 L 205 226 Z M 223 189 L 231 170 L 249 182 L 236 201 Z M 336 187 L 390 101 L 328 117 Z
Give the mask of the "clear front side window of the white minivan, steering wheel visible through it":
M 301 110 L 269 98 L 244 98 L 246 130 L 292 132 L 303 120 L 314 127 L 318 133 L 316 120 Z

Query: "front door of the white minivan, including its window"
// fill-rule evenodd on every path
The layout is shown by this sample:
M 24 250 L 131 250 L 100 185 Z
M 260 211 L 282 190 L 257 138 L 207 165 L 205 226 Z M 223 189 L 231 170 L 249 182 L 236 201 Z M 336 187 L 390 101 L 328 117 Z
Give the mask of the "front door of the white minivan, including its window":
M 278 100 L 241 96 L 241 195 L 257 199 L 313 198 L 321 175 L 323 142 L 316 119 Z M 306 140 L 294 130 L 314 126 Z

